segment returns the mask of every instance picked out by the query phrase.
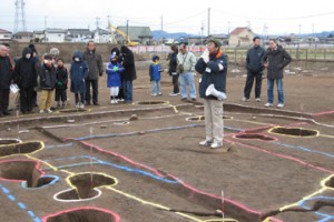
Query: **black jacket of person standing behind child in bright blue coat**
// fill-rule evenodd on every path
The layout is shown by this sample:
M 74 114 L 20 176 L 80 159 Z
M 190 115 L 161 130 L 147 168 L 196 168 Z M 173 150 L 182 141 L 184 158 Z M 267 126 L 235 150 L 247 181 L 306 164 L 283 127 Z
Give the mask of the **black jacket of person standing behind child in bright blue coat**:
M 136 68 L 135 68 L 135 56 L 132 51 L 126 46 L 121 46 L 120 53 L 122 54 L 124 61 L 122 67 L 125 69 L 124 80 L 132 81 L 136 79 Z

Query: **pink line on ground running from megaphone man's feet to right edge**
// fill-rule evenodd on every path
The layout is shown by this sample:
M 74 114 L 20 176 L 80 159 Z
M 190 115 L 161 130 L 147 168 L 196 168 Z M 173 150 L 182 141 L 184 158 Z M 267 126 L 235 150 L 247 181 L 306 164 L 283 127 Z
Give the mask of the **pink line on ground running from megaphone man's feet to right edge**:
M 313 165 L 311 163 L 306 163 L 303 160 L 297 159 L 297 158 L 293 158 L 291 155 L 285 155 L 285 154 L 272 152 L 272 151 L 268 151 L 268 150 L 265 150 L 265 149 L 256 148 L 256 147 L 253 147 L 253 145 L 247 145 L 247 144 L 244 144 L 244 143 L 240 143 L 240 142 L 230 141 L 230 140 L 225 140 L 225 141 L 230 142 L 230 143 L 236 143 L 236 144 L 239 144 L 242 147 L 246 147 L 246 148 L 249 148 L 252 150 L 261 151 L 261 152 L 264 152 L 264 153 L 267 153 L 267 154 L 271 154 L 271 155 L 275 155 L 275 157 L 278 157 L 278 158 L 292 160 L 292 161 L 295 161 L 297 163 L 301 163 L 302 165 L 306 165 L 308 168 L 313 168 L 313 169 L 316 169 L 316 170 L 320 170 L 320 171 L 323 171 L 323 172 L 327 172 L 327 173 L 332 173 L 332 174 L 334 173 L 334 171 L 332 171 L 332 170 L 327 170 L 327 169 L 322 168 L 322 167 L 317 167 L 317 165 Z

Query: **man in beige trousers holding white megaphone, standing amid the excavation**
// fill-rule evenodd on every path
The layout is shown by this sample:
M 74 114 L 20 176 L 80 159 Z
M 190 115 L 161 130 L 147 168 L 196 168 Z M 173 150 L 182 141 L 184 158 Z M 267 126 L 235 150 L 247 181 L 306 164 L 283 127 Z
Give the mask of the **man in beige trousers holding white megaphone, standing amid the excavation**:
M 204 99 L 205 134 L 203 147 L 210 147 L 212 150 L 227 152 L 229 148 L 223 147 L 224 122 L 223 100 L 226 99 L 226 73 L 227 58 L 220 50 L 219 40 L 210 39 L 207 49 L 200 56 L 195 69 L 202 74 L 199 80 L 199 95 Z M 208 87 L 214 84 L 216 93 L 208 93 Z M 222 97 L 219 97 L 222 95 Z

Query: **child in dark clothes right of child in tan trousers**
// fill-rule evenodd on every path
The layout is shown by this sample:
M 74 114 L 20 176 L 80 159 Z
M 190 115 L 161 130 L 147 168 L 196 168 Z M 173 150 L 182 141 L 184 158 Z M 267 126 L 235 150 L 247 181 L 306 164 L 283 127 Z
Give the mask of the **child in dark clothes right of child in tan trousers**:
M 67 101 L 67 82 L 68 82 L 68 72 L 67 69 L 63 67 L 63 60 L 61 58 L 57 59 L 57 68 L 56 68 L 56 97 L 55 100 L 57 102 L 57 108 L 66 107 Z

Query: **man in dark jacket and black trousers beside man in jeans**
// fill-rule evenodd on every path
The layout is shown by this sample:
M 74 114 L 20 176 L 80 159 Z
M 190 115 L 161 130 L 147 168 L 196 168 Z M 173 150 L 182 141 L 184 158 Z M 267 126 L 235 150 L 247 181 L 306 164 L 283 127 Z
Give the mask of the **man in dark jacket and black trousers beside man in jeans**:
M 264 70 L 264 67 L 262 64 L 262 58 L 264 53 L 265 50 L 261 47 L 259 37 L 254 37 L 253 47 L 247 51 L 247 57 L 246 57 L 247 79 L 244 88 L 244 97 L 242 99 L 242 101 L 244 102 L 249 101 L 254 79 L 255 79 L 255 101 L 261 102 L 262 75 Z

